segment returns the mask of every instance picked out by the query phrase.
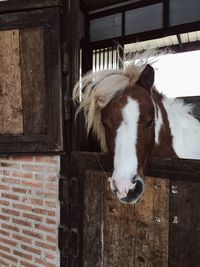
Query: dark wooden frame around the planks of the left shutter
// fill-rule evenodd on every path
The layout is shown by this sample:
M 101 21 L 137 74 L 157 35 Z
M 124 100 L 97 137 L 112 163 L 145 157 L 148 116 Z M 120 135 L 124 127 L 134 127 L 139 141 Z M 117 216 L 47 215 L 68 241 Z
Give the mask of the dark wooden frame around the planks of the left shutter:
M 58 7 L 0 15 L 0 31 L 41 27 L 44 42 L 46 133 L 0 135 L 0 154 L 62 153 L 62 77 Z

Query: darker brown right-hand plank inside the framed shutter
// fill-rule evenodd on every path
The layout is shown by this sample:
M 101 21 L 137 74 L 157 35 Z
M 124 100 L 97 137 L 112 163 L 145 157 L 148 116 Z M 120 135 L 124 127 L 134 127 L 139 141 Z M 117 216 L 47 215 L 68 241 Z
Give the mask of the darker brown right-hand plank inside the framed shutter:
M 20 30 L 25 134 L 46 132 L 44 44 L 42 28 Z

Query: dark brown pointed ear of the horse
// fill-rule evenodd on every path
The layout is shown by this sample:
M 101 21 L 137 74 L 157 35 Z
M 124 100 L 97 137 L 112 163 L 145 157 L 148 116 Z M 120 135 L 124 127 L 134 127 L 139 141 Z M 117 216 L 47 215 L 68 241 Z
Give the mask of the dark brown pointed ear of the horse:
M 148 91 L 150 91 L 151 87 L 154 83 L 154 69 L 151 65 L 147 64 L 140 77 L 137 81 L 137 84 L 141 85 Z

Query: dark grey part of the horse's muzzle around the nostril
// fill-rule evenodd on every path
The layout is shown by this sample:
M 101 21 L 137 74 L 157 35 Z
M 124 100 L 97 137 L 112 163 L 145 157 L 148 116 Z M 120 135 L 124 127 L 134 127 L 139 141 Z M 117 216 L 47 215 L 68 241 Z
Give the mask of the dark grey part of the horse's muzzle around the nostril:
M 140 200 L 144 192 L 144 181 L 140 176 L 137 176 L 132 183 L 135 185 L 134 188 L 128 191 L 126 197 L 120 198 L 120 202 L 135 204 L 138 200 Z

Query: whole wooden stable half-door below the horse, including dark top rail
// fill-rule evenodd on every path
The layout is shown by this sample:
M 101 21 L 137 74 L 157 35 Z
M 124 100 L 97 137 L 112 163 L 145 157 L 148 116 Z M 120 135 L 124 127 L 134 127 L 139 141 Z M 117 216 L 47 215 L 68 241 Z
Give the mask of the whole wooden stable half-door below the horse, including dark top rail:
M 154 159 L 135 205 L 110 191 L 111 162 L 103 154 L 72 155 L 79 266 L 199 267 L 200 162 Z

